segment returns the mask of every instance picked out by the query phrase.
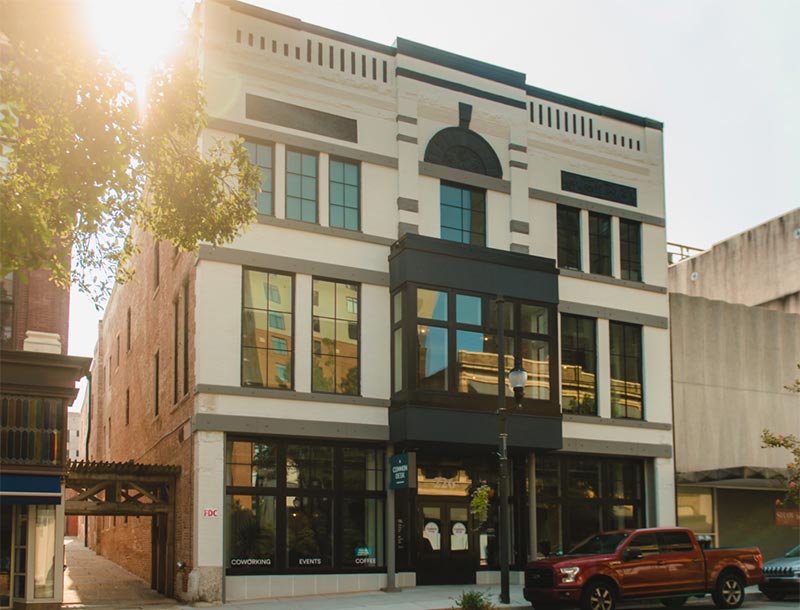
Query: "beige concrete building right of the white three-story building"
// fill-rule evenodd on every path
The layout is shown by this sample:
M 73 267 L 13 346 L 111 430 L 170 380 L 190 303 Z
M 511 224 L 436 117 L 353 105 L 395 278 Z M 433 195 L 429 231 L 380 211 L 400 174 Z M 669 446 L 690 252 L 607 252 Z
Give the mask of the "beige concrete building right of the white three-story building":
M 760 437 L 800 437 L 800 396 L 785 389 L 799 375 L 800 209 L 669 278 L 678 522 L 720 546 L 781 555 L 800 535 L 776 512 L 792 456 Z

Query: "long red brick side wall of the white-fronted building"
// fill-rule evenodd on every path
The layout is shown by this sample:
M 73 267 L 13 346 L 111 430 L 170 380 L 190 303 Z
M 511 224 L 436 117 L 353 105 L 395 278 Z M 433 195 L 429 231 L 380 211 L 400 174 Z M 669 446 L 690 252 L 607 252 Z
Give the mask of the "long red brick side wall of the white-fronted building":
M 136 275 L 117 286 L 100 326 L 92 379 L 90 460 L 178 465 L 175 561 L 192 558 L 192 438 L 194 408 L 194 262 L 159 246 L 159 284 L 154 244 L 139 234 Z M 183 345 L 184 286 L 188 282 L 189 345 Z M 174 400 L 174 302 L 178 301 L 178 400 Z M 131 312 L 128 350 L 128 311 Z M 183 393 L 183 353 L 188 348 L 189 391 Z M 159 353 L 159 409 L 155 414 L 154 355 Z M 110 365 L 110 366 L 109 366 Z M 126 400 L 127 391 L 127 400 Z M 126 423 L 126 403 L 128 421 Z M 110 426 L 110 427 L 109 427 Z M 150 582 L 149 517 L 89 519 L 90 546 Z M 96 542 L 93 542 L 95 540 Z

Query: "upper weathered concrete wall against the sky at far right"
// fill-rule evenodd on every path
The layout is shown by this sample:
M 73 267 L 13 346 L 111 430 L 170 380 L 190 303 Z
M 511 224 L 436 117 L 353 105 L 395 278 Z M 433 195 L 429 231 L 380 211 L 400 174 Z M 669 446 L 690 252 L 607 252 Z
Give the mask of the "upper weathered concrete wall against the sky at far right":
M 800 313 L 800 208 L 672 265 L 669 289 Z

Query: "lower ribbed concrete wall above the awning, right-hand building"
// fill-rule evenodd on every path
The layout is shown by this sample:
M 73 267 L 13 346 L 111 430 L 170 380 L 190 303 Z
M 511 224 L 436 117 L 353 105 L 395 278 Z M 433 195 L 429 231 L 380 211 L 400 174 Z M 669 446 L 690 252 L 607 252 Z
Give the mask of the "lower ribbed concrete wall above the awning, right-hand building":
M 785 468 L 761 430 L 800 435 L 796 394 L 800 315 L 670 295 L 678 472 Z

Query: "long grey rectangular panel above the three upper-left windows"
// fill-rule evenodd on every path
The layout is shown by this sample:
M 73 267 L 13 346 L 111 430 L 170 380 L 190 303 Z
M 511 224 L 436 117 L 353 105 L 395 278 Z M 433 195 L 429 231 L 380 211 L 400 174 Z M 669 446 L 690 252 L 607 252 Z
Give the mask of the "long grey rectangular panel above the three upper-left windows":
M 355 119 L 250 93 L 245 97 L 245 116 L 255 121 L 282 125 L 347 142 L 358 142 L 358 123 Z

